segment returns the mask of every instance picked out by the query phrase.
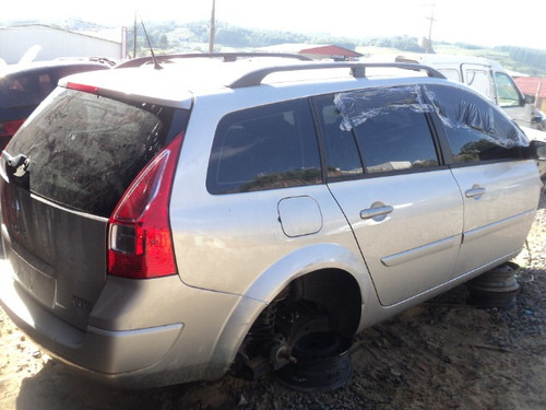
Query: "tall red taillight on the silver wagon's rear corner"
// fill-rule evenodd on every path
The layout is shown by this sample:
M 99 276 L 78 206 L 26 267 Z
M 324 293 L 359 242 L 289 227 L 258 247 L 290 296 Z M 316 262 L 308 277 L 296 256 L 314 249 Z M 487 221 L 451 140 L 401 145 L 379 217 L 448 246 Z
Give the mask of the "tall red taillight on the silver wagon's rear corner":
M 108 221 L 108 273 L 133 279 L 177 274 L 169 198 L 183 136 L 139 174 Z

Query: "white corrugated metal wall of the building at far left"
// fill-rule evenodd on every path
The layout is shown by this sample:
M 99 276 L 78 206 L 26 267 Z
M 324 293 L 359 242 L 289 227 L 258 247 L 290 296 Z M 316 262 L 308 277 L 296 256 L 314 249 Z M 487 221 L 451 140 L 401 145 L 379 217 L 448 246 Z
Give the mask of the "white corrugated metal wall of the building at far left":
M 33 47 L 39 49 L 35 61 L 52 60 L 59 57 L 122 59 L 121 42 L 92 37 L 46 25 L 0 28 L 0 58 L 5 62 L 17 62 Z

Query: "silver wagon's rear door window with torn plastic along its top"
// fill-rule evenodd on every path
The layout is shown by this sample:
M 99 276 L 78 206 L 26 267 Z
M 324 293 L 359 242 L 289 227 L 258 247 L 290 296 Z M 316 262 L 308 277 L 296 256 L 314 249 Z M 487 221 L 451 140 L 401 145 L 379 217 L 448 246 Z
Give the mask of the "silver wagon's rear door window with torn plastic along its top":
M 383 87 L 316 98 L 329 177 L 438 166 L 419 87 Z M 363 166 L 364 164 L 364 166 Z

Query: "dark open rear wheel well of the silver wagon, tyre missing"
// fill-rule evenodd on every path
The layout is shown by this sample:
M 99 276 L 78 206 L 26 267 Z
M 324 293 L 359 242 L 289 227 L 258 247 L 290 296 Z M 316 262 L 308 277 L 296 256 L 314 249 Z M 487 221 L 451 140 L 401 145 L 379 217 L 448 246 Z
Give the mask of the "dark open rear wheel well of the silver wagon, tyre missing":
M 260 376 L 302 355 L 346 351 L 360 323 L 358 282 L 341 269 L 320 269 L 290 281 L 258 314 L 236 353 L 236 373 Z

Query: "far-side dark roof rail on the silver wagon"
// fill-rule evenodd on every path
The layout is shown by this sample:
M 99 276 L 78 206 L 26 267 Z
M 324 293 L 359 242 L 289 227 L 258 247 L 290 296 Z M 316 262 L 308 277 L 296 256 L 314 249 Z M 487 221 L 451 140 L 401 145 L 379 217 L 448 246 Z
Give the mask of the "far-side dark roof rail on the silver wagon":
M 301 61 L 311 61 L 309 57 L 305 57 L 297 54 L 288 52 L 187 52 L 187 54 L 170 54 L 155 56 L 157 62 L 173 62 L 174 59 L 183 58 L 222 58 L 223 61 L 235 61 L 240 58 L 252 58 L 252 57 L 277 57 L 277 58 L 293 58 Z M 127 60 L 120 62 L 115 68 L 129 68 L 129 67 L 140 67 L 146 62 L 153 61 L 152 56 L 133 58 L 132 60 Z

